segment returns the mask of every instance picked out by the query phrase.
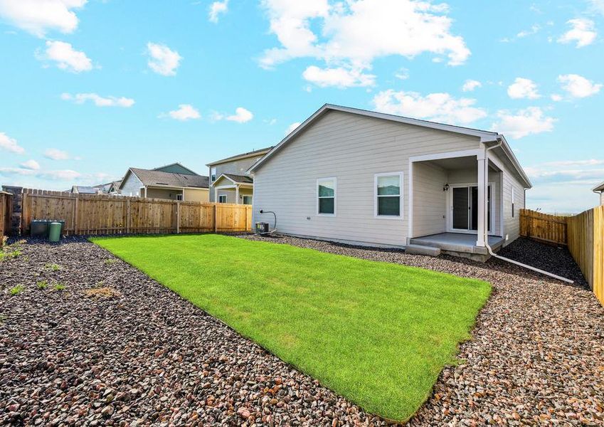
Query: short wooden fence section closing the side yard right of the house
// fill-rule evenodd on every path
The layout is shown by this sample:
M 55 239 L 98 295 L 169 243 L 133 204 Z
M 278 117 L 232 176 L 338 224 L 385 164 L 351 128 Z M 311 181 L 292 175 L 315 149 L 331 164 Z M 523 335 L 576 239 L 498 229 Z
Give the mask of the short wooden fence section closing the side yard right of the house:
M 566 216 L 541 214 L 541 212 L 530 209 L 520 209 L 520 236 L 566 245 L 566 218 Z

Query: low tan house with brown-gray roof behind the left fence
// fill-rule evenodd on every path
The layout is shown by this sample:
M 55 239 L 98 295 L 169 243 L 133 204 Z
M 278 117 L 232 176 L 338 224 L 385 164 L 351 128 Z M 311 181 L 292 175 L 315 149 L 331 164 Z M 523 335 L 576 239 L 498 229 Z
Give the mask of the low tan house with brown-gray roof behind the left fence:
M 198 175 L 179 163 L 155 169 L 128 169 L 118 188 L 122 196 L 150 199 L 208 201 L 208 176 Z

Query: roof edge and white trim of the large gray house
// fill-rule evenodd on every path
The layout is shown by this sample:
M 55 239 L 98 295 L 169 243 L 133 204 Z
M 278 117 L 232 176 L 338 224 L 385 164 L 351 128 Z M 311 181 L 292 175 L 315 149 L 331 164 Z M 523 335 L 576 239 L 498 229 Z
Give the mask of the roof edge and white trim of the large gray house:
M 310 117 L 308 117 L 307 120 L 304 120 L 304 122 L 300 126 L 298 126 L 295 130 L 290 132 L 290 134 L 287 135 L 285 138 L 283 138 L 281 140 L 281 142 L 279 142 L 279 144 L 275 145 L 275 147 L 272 147 L 270 152 L 267 152 L 267 154 L 265 154 L 265 156 L 262 159 L 258 160 L 258 162 L 255 162 L 255 164 L 253 164 L 248 169 L 248 171 L 253 172 L 256 169 L 258 169 L 262 164 L 264 164 L 265 162 L 268 162 L 270 160 L 270 158 L 276 152 L 279 152 L 279 150 L 282 149 L 283 147 L 285 147 L 285 145 L 287 145 L 290 141 L 292 141 L 292 139 L 295 139 L 295 137 L 297 137 L 297 135 L 300 135 L 302 132 L 304 132 L 304 130 L 307 127 L 309 127 L 310 125 L 312 125 L 312 123 L 314 123 L 316 120 L 318 120 L 319 117 L 322 117 L 323 115 L 327 114 L 327 112 L 329 112 L 329 111 L 349 112 L 349 113 L 355 114 L 355 115 L 362 115 L 362 116 L 373 117 L 373 118 L 382 119 L 382 120 L 390 120 L 392 122 L 405 123 L 406 125 L 429 127 L 430 129 L 454 132 L 454 133 L 461 134 L 461 135 L 478 137 L 478 138 L 480 138 L 481 142 L 501 141 L 502 149 L 504 150 L 506 156 L 509 158 L 509 161 L 512 162 L 512 164 L 514 165 L 514 169 L 516 169 L 518 174 L 525 181 L 527 188 L 532 186 L 531 181 L 529 180 L 529 177 L 526 176 L 526 173 L 524 173 L 524 170 L 522 169 L 522 167 L 520 166 L 520 164 L 518 162 L 518 159 L 516 159 L 516 156 L 512 152 L 512 148 L 509 147 L 509 144 L 507 143 L 505 137 L 497 132 L 492 132 L 489 130 L 472 129 L 471 127 L 445 125 L 443 123 L 438 123 L 438 122 L 429 122 L 428 120 L 412 119 L 410 117 L 402 117 L 402 116 L 398 116 L 398 115 L 386 114 L 383 112 L 361 110 L 359 108 L 343 107 L 341 105 L 333 105 L 333 104 L 325 104 L 321 108 L 319 108 L 319 110 L 314 112 L 314 114 L 311 115 Z

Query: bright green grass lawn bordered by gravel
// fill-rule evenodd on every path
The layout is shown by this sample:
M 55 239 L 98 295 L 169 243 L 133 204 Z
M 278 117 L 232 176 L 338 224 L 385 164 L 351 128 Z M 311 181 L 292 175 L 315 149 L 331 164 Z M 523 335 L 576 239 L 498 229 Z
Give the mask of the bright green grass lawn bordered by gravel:
M 421 268 L 229 236 L 92 241 L 366 411 L 398 421 L 455 363 L 491 289 Z

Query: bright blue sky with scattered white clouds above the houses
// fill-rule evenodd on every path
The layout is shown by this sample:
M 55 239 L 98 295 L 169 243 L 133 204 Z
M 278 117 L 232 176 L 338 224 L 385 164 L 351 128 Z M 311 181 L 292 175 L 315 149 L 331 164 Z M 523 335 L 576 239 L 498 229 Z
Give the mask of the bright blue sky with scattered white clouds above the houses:
M 0 183 L 267 147 L 325 102 L 497 130 L 528 204 L 604 180 L 604 0 L 0 0 Z

